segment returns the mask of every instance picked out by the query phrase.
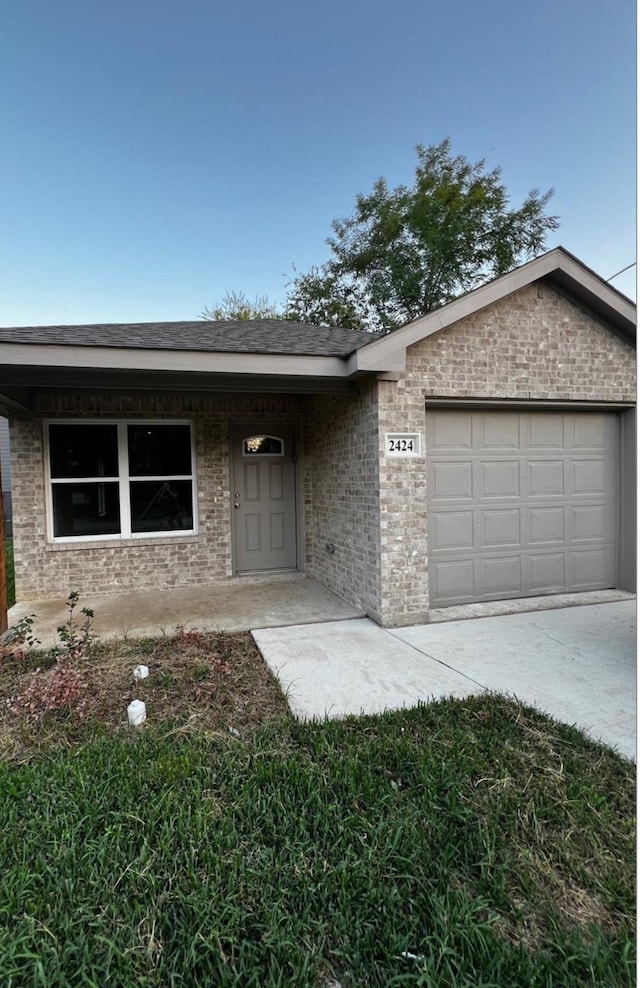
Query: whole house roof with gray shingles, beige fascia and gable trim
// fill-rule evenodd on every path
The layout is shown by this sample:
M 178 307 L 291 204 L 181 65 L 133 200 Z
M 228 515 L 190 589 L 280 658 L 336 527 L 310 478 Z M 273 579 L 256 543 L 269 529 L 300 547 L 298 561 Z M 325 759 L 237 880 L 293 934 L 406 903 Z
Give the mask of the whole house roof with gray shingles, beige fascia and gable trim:
M 30 414 L 39 390 L 354 391 L 364 375 L 397 380 L 413 344 L 536 282 L 635 345 L 633 302 L 557 247 L 393 333 L 278 319 L 0 328 L 0 413 Z

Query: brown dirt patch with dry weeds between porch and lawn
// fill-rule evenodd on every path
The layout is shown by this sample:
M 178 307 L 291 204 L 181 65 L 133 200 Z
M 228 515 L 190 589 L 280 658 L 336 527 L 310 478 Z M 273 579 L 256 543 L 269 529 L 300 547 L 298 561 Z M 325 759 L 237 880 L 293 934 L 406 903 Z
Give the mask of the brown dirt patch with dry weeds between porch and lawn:
M 137 666 L 149 675 L 134 677 Z M 0 660 L 0 758 L 20 757 L 53 732 L 63 740 L 87 722 L 130 730 L 127 706 L 143 700 L 148 723 L 240 733 L 286 716 L 284 696 L 248 632 L 185 631 L 156 639 L 93 643 L 65 662 L 82 689 L 52 689 L 59 663 L 46 653 Z M 38 696 L 44 705 L 38 707 Z M 51 697 L 59 706 L 46 709 Z

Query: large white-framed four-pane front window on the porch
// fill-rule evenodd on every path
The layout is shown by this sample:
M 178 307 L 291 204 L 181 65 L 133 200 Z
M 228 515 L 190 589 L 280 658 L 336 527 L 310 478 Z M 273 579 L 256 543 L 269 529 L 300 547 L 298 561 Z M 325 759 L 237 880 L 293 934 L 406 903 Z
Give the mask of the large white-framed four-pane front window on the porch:
M 49 422 L 54 539 L 193 532 L 188 422 Z

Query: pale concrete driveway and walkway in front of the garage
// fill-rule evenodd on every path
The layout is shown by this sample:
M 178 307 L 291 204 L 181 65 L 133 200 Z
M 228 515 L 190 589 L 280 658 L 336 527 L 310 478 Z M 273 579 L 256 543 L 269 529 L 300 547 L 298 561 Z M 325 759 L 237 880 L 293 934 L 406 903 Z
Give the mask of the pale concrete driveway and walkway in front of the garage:
M 253 637 L 302 719 L 490 690 L 635 757 L 635 600 L 396 629 L 354 619 Z

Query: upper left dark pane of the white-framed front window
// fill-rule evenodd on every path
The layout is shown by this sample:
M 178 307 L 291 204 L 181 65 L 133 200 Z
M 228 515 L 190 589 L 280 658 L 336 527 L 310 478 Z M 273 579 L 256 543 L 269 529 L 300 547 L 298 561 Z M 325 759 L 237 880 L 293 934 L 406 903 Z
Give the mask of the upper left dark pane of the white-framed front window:
M 117 477 L 115 425 L 50 425 L 52 477 Z

